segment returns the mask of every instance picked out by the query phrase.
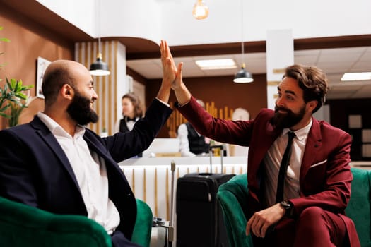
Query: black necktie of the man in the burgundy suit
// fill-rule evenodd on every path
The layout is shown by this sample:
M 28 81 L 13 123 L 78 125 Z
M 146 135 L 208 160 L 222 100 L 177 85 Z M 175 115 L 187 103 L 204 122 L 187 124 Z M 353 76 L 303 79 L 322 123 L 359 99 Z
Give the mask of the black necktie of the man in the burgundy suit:
M 295 137 L 295 133 L 288 132 L 288 145 L 286 146 L 286 150 L 283 153 L 280 171 L 278 173 L 278 183 L 277 183 L 277 193 L 276 193 L 276 203 L 279 203 L 283 200 L 283 187 L 285 186 L 285 176 L 288 169 L 288 163 L 290 162 L 291 157 L 291 146 L 293 144 L 293 138 Z

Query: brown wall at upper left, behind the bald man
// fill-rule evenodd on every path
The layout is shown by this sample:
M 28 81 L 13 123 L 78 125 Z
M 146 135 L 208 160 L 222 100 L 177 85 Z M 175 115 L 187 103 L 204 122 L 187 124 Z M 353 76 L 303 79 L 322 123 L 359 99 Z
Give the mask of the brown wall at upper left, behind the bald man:
M 25 85 L 36 83 L 37 56 L 53 61 L 56 59 L 73 59 L 73 42 L 63 40 L 52 30 L 46 30 L 42 25 L 23 17 L 7 6 L 0 8 L 0 37 L 6 37 L 11 42 L 0 42 L 0 64 L 6 63 L 0 70 L 0 86 L 5 78 L 23 80 Z M 35 85 L 36 86 L 36 85 Z M 30 90 L 35 96 L 35 87 Z M 42 109 L 42 100 L 34 102 L 33 111 Z M 27 110 L 25 110 L 27 114 Z M 33 115 L 30 114 L 30 115 Z M 6 126 L 6 119 L 0 118 L 0 129 Z

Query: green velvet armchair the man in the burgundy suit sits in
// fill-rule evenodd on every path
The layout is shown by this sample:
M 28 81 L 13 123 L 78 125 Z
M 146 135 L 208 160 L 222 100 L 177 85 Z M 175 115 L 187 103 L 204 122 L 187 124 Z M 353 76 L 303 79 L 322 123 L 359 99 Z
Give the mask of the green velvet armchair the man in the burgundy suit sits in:
M 371 246 L 371 171 L 351 168 L 353 174 L 351 200 L 346 215 L 353 219 L 361 246 Z M 223 210 L 230 247 L 252 247 L 252 239 L 246 236 L 247 174 L 232 177 L 218 189 L 218 201 Z

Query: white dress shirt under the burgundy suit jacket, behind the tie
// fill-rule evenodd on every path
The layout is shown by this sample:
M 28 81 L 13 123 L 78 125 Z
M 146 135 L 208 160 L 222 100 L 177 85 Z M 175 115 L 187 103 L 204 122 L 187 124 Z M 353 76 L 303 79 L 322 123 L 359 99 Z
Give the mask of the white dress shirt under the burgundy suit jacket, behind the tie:
M 300 197 L 300 168 L 302 166 L 302 156 L 304 155 L 307 136 L 312 127 L 312 119 L 310 123 L 298 131 L 294 131 L 293 146 L 290 157 L 290 162 L 285 177 L 285 186 L 283 191 L 283 199 L 299 198 Z M 289 128 L 284 128 L 282 134 L 274 141 L 264 157 L 265 172 L 264 176 L 264 195 L 266 206 L 270 207 L 276 204 L 276 192 L 278 183 L 278 172 L 280 170 L 281 159 L 285 152 L 288 143 L 287 133 Z

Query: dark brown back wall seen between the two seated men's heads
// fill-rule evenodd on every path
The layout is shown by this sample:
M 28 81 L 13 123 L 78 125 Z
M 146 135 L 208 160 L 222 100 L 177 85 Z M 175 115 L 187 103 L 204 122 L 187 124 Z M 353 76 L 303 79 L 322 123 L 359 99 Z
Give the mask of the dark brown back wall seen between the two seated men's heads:
M 146 84 L 146 102 L 151 103 L 156 97 L 160 80 L 149 80 Z M 247 109 L 250 119 L 257 116 L 261 108 L 266 107 L 266 75 L 254 75 L 253 83 L 233 83 L 233 76 L 216 78 L 184 78 L 184 83 L 194 97 L 204 102 L 215 102 L 217 108 L 228 107 Z M 175 102 L 174 92 L 170 102 Z M 172 114 L 175 114 L 174 112 Z M 158 137 L 169 137 L 169 128 L 165 125 Z

